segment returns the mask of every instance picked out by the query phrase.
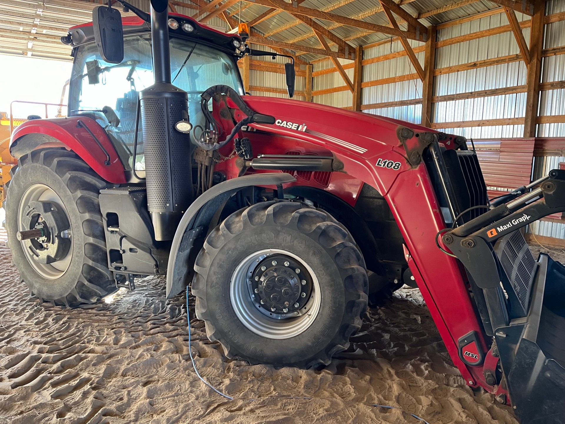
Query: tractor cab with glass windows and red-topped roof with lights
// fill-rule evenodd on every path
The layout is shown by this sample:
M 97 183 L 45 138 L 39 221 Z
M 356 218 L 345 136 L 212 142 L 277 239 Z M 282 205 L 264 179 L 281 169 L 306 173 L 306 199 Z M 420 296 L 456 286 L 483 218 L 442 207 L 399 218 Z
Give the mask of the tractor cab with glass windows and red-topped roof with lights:
M 123 60 L 107 62 L 95 41 L 92 23 L 69 29 L 64 38 L 75 57 L 69 85 L 68 116 L 89 116 L 101 125 L 118 152 L 125 170 L 145 177 L 145 155 L 138 119 L 141 90 L 154 83 L 151 31 L 145 21 L 123 18 Z M 201 94 L 221 84 L 244 94 L 237 60 L 242 40 L 182 15 L 169 15 L 171 82 L 188 94 L 191 139 L 204 125 Z M 136 132 L 136 122 L 138 131 Z M 135 137 L 136 133 L 139 135 Z M 137 138 L 137 146 L 134 146 Z M 133 158 L 134 147 L 136 157 Z

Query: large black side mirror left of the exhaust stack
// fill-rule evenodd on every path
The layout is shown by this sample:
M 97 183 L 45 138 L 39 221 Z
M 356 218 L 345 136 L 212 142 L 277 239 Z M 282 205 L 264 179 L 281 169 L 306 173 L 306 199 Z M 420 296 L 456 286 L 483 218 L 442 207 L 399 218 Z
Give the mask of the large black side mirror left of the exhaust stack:
M 106 62 L 121 63 L 124 60 L 124 30 L 120 11 L 108 6 L 98 6 L 92 11 L 94 40 Z

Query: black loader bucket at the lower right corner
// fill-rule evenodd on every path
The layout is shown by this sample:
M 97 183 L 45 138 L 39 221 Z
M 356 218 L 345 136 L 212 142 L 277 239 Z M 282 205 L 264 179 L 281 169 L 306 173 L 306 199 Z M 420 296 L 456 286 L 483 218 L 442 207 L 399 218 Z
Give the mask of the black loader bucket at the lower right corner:
M 565 424 L 565 266 L 540 254 L 526 318 L 495 332 L 521 424 Z

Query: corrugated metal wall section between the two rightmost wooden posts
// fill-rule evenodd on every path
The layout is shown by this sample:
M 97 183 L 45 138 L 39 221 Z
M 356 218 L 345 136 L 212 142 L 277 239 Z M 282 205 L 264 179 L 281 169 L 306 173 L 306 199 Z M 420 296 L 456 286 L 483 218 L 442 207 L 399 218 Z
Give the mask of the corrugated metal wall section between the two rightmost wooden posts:
M 516 13 L 519 21 L 528 20 L 529 16 Z M 482 19 L 439 29 L 437 41 L 471 34 L 477 31 L 508 25 L 506 14 L 486 16 Z M 525 40 L 529 40 L 529 28 L 523 29 Z M 440 47 L 436 50 L 436 69 L 471 63 L 477 60 L 492 59 L 511 54 L 519 54 L 518 44 L 512 32 L 496 34 L 490 37 L 476 38 Z M 434 95 L 466 93 L 476 90 L 506 88 L 526 83 L 527 69 L 523 61 L 498 64 L 477 69 L 437 75 L 434 81 Z M 485 120 L 501 118 L 520 118 L 525 113 L 525 93 L 505 94 L 472 99 L 462 99 L 435 103 L 432 122 L 461 122 L 467 120 Z M 498 137 L 521 137 L 523 125 L 438 128 L 464 137 L 492 139 Z

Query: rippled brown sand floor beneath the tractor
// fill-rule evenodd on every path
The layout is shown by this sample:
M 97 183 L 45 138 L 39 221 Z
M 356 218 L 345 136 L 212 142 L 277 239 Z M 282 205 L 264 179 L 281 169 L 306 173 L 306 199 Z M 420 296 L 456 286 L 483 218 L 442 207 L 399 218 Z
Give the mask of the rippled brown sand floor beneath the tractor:
M 165 300 L 163 279 L 69 310 L 30 297 L 10 264 L 0 239 L 0 423 L 517 423 L 466 386 L 417 289 L 369 310 L 357 351 L 321 371 L 227 360 L 190 298 L 197 367 L 230 401 L 195 375 L 185 297 Z

